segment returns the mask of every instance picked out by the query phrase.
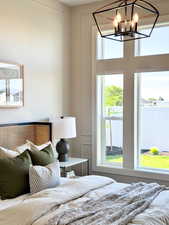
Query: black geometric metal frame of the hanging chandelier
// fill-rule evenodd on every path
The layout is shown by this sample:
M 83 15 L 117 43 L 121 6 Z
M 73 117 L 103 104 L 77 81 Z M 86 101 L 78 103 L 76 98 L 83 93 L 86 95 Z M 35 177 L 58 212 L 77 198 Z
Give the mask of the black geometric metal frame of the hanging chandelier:
M 118 4 L 118 5 L 114 7 L 113 6 L 114 4 Z M 127 10 L 129 7 L 131 7 L 131 10 L 130 10 L 131 12 L 129 15 L 130 21 L 127 20 L 127 23 L 129 22 L 131 23 L 131 21 L 133 20 L 135 8 L 140 8 L 141 10 L 144 10 L 147 14 L 150 13 L 150 17 L 154 16 L 154 23 L 151 25 L 149 34 L 140 32 L 136 27 L 138 26 L 138 24 L 135 24 L 134 29 L 131 29 L 131 26 L 130 26 L 129 30 L 126 30 L 125 28 L 123 30 L 118 29 L 117 31 L 115 28 L 114 32 L 109 34 L 104 34 L 104 32 L 101 29 L 101 25 L 103 24 L 99 24 L 97 16 L 103 15 L 104 13 L 107 13 L 109 11 L 116 12 L 117 14 L 118 10 L 124 9 L 124 15 L 127 18 L 127 13 L 128 13 Z M 155 28 L 155 25 L 160 16 L 160 13 L 155 6 L 153 6 L 151 3 L 147 2 L 146 0 L 116 0 L 110 4 L 104 5 L 103 7 L 97 9 L 95 12 L 92 13 L 92 15 L 96 23 L 96 27 L 102 38 L 124 42 L 124 41 L 137 40 L 137 39 L 150 37 Z M 113 22 L 113 19 L 112 19 L 112 22 Z M 117 39 L 117 37 L 120 39 Z M 127 37 L 130 37 L 130 38 L 127 39 Z

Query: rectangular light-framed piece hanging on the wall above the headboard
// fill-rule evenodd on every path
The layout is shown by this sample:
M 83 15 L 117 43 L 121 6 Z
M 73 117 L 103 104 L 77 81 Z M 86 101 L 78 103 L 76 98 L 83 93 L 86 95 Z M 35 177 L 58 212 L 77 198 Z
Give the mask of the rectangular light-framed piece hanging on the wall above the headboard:
M 0 108 L 19 108 L 23 105 L 23 66 L 0 62 Z

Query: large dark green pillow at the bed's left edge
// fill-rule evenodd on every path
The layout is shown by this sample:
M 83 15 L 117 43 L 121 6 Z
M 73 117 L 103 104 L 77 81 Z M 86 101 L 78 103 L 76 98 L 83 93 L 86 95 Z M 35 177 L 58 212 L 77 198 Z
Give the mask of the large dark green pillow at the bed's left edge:
M 28 151 L 15 158 L 0 159 L 0 197 L 2 200 L 30 192 L 30 165 L 32 161 Z

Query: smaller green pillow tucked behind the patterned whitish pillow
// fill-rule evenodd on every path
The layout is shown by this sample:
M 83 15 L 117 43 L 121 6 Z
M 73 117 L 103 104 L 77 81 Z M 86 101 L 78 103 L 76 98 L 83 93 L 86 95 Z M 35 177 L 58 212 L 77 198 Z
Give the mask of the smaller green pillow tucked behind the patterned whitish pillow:
M 29 151 L 33 165 L 47 166 L 56 161 L 51 145 L 40 151 Z

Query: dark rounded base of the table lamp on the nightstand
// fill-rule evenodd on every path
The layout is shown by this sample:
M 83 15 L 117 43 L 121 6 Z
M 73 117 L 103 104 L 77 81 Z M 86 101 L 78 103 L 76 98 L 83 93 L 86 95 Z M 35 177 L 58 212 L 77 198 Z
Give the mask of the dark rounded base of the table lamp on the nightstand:
M 65 139 L 61 139 L 56 145 L 56 151 L 58 152 L 58 160 L 60 162 L 68 161 L 68 152 L 70 146 Z

